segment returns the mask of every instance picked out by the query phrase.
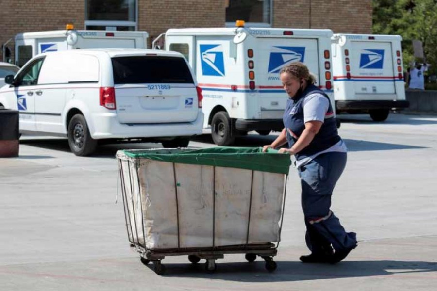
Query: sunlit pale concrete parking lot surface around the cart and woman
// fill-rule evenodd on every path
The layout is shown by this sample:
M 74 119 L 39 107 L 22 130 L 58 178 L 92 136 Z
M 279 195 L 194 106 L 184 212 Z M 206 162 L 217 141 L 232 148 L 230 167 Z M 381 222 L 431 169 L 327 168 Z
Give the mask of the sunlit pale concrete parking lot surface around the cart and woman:
M 156 275 L 129 246 L 115 153 L 160 144 L 106 145 L 76 157 L 66 139 L 23 136 L 19 157 L 0 158 L 0 290 L 437 290 L 437 117 L 341 119 L 349 154 L 332 210 L 359 240 L 344 261 L 299 262 L 308 251 L 291 168 L 275 272 L 261 259 L 225 255 L 208 274 L 175 256 Z M 235 146 L 274 138 L 249 134 Z M 190 146 L 214 144 L 202 135 Z

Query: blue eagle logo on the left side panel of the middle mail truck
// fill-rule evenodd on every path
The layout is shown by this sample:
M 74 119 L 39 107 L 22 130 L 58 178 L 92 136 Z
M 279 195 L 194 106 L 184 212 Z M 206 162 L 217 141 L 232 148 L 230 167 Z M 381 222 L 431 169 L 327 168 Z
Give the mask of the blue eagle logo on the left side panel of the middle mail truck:
M 200 45 L 202 74 L 204 76 L 224 77 L 222 45 Z

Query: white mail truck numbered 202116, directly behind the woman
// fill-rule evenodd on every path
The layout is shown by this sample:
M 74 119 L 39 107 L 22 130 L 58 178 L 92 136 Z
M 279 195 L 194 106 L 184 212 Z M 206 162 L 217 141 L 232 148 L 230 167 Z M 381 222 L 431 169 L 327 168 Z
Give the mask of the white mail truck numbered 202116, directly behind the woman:
M 204 97 L 204 128 L 211 127 L 214 143 L 225 146 L 248 131 L 267 135 L 284 128 L 287 95 L 279 71 L 291 62 L 306 64 L 316 76 L 316 85 L 333 100 L 332 34 L 331 30 L 245 28 L 244 23 L 235 28 L 169 29 L 165 49 L 182 53 L 193 68 Z

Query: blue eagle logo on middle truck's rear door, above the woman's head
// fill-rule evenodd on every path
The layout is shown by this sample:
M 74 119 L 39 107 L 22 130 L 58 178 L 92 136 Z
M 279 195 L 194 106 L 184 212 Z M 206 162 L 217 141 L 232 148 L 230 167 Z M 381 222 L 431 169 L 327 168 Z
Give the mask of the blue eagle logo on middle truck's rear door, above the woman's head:
M 272 47 L 269 58 L 269 68 L 271 73 L 279 73 L 283 66 L 293 62 L 302 62 L 305 58 L 305 47 Z

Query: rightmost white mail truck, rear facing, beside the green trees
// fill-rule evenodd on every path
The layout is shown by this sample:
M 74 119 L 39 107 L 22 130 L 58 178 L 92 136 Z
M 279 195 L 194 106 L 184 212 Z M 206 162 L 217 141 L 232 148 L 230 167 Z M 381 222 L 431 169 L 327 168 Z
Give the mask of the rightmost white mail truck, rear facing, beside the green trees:
M 401 36 L 334 34 L 332 63 L 336 113 L 369 113 L 384 121 L 406 108 Z

